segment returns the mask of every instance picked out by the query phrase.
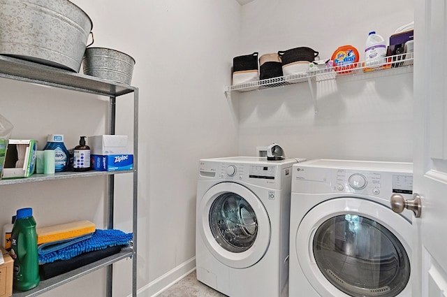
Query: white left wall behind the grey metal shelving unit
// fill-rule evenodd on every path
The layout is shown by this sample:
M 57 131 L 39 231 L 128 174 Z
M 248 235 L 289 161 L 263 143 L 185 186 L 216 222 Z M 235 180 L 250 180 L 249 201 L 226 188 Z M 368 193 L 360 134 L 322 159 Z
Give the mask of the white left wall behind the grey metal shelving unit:
M 207 0 L 73 2 L 93 20 L 94 46 L 121 50 L 136 60 L 138 287 L 139 296 L 149 296 L 154 293 L 150 284 L 159 277 L 191 259 L 193 265 L 198 160 L 237 154 L 237 122 L 223 88 L 230 83 L 230 57 L 238 46 L 240 5 Z M 0 88 L 0 113 L 15 125 L 13 138 L 37 138 L 42 148 L 47 133 L 64 133 L 66 146 L 74 147 L 81 135 L 104 133 L 107 99 L 6 79 L 0 80 Z M 132 99 L 118 99 L 117 133 L 132 135 Z M 85 111 L 76 117 L 80 106 Z M 131 176 L 116 179 L 115 226 L 131 231 Z M 103 227 L 104 191 L 104 178 L 1 187 L 0 224 L 17 208 L 31 206 L 41 226 L 91 219 Z M 114 296 L 128 296 L 131 261 L 115 267 Z M 101 270 L 44 295 L 104 296 L 103 279 Z

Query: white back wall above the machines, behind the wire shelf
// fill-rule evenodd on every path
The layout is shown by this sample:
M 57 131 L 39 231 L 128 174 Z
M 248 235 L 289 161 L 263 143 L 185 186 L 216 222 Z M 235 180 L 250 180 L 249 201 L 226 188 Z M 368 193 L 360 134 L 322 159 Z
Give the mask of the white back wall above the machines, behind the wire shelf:
M 242 6 L 240 55 L 307 46 L 330 59 L 350 44 L 364 59 L 369 31 L 388 44 L 411 21 L 413 3 L 405 0 L 256 0 Z M 276 142 L 288 157 L 411 161 L 412 73 L 340 78 L 313 88 L 318 115 L 307 83 L 238 94 L 240 154 Z

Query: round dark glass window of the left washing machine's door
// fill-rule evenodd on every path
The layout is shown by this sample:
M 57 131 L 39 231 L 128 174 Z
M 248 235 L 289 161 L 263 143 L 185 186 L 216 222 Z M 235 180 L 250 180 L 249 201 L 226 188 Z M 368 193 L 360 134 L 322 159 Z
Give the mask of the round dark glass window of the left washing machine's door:
M 235 193 L 221 194 L 210 209 L 214 239 L 229 252 L 245 252 L 258 235 L 258 220 L 249 203 Z

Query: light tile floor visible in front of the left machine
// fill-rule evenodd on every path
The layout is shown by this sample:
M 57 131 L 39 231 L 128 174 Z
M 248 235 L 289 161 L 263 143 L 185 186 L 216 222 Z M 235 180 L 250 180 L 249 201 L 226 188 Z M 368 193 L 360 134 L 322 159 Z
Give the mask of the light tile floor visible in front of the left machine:
M 196 270 L 156 297 L 225 297 L 197 280 Z

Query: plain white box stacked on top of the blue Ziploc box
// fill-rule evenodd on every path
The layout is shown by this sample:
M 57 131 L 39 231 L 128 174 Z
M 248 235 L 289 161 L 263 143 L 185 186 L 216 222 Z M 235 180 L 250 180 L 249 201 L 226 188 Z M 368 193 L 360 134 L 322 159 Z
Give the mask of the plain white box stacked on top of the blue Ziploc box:
M 100 156 L 129 154 L 126 135 L 89 136 L 90 154 Z

